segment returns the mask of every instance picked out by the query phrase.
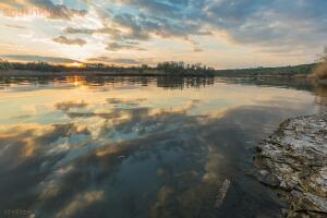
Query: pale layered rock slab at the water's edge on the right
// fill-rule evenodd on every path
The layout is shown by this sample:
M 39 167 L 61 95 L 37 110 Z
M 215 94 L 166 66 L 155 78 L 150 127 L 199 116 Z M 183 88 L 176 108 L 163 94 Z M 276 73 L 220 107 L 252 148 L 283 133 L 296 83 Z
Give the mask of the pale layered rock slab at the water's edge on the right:
M 327 114 L 289 119 L 257 148 L 257 179 L 281 191 L 287 217 L 327 217 Z

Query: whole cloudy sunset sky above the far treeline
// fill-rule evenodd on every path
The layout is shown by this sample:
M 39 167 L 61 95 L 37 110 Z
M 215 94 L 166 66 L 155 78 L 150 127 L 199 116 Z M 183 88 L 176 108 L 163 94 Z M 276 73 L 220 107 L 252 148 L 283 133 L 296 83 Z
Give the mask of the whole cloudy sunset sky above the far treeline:
M 0 0 L 0 58 L 52 63 L 315 61 L 326 0 Z

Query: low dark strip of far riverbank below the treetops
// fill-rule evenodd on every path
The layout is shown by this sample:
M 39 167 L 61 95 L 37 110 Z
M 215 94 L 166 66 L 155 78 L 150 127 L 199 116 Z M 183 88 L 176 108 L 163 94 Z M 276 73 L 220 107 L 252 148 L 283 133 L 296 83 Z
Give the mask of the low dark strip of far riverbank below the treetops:
M 9 63 L 10 64 L 10 63 Z M 44 75 L 108 75 L 108 76 L 223 76 L 223 77 L 307 77 L 312 74 L 315 64 L 302 64 L 278 68 L 251 69 L 160 69 L 160 68 L 66 68 L 46 63 L 11 63 L 10 70 L 1 70 L 0 76 L 44 76 Z M 19 65 L 17 65 L 19 64 Z

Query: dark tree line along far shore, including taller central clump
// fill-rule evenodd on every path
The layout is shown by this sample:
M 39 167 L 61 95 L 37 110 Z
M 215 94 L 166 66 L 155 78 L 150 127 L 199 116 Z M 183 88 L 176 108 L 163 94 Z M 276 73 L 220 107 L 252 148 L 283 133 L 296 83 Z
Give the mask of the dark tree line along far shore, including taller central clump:
M 201 63 L 162 62 L 156 66 L 142 64 L 138 66 L 118 66 L 104 63 L 83 63 L 83 66 L 68 66 L 47 62 L 9 62 L 0 60 L 0 75 L 31 75 L 31 74 L 113 74 L 113 75 L 191 75 L 191 76 L 307 76 L 317 63 L 289 65 L 278 68 L 251 68 L 215 70 Z

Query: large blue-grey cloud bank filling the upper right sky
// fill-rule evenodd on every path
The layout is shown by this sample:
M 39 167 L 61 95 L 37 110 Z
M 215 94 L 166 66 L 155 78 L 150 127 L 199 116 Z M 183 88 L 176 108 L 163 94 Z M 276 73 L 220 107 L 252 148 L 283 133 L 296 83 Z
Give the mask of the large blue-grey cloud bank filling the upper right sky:
M 114 0 L 113 5 L 120 10 L 99 14 L 110 25 L 128 29 L 120 37 L 113 34 L 118 43 L 154 36 L 192 43 L 192 36 L 218 32 L 232 43 L 263 52 L 304 53 L 320 47 L 327 37 L 324 0 Z

